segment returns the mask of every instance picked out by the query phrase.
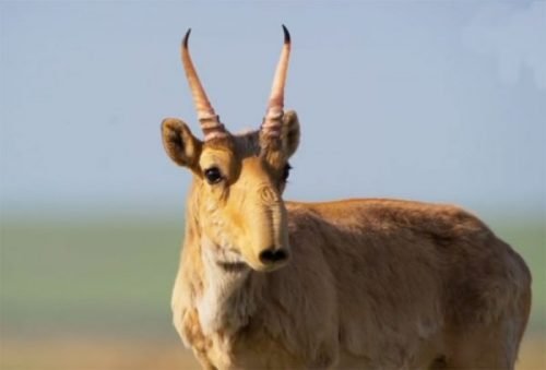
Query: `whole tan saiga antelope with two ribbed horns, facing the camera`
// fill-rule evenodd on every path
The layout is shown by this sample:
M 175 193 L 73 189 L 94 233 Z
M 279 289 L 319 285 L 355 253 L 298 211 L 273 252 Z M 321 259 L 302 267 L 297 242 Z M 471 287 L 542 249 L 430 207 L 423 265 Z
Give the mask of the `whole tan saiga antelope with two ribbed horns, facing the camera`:
M 523 260 L 467 212 L 399 200 L 285 202 L 299 121 L 290 37 L 261 128 L 229 133 L 181 58 L 204 140 L 162 123 L 192 171 L 174 323 L 205 369 L 512 369 L 531 305 Z

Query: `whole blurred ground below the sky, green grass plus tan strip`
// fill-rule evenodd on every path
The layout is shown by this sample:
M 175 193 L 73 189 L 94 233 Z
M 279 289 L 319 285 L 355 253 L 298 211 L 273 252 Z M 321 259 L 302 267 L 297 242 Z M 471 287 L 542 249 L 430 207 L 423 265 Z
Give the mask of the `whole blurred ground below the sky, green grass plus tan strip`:
M 181 219 L 2 219 L 1 369 L 195 367 L 170 325 Z M 545 227 L 491 227 L 533 272 L 519 368 L 546 369 Z

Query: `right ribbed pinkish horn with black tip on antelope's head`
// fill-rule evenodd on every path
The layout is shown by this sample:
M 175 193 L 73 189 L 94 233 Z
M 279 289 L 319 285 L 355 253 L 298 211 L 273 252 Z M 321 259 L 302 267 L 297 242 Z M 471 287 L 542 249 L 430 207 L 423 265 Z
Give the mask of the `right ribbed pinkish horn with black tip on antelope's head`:
M 286 83 L 286 73 L 288 72 L 288 59 L 290 56 L 290 34 L 283 24 L 284 45 L 281 51 L 281 59 L 276 65 L 275 76 L 273 77 L 273 87 L 271 88 L 268 110 L 262 123 L 262 133 L 270 136 L 281 134 L 282 119 L 284 115 L 284 85 Z

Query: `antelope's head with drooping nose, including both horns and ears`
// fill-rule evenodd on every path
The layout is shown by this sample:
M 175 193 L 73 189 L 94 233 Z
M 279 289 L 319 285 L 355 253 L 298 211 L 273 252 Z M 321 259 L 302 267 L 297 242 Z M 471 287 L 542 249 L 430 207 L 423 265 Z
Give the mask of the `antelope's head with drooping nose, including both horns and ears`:
M 193 223 L 202 249 L 218 264 L 273 271 L 289 259 L 287 215 L 282 193 L 288 158 L 299 143 L 299 122 L 284 111 L 284 86 L 290 36 L 283 25 L 281 52 L 265 116 L 259 130 L 232 134 L 214 111 L 198 77 L 188 49 L 190 31 L 181 46 L 203 140 L 179 119 L 162 123 L 168 156 L 191 170 L 187 222 Z M 188 231 L 187 231 L 188 232 Z

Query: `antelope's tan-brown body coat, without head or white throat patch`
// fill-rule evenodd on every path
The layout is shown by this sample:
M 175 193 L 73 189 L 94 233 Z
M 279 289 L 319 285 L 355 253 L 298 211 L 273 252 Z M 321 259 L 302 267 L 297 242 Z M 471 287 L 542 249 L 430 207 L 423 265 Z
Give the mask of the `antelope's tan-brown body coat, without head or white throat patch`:
M 195 303 L 206 276 L 189 225 L 173 308 L 204 367 L 513 367 L 531 276 L 476 217 L 394 200 L 286 206 L 290 263 L 225 272 L 237 288 L 206 334 Z

